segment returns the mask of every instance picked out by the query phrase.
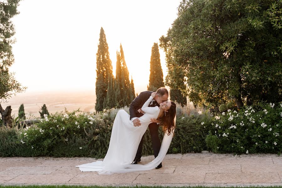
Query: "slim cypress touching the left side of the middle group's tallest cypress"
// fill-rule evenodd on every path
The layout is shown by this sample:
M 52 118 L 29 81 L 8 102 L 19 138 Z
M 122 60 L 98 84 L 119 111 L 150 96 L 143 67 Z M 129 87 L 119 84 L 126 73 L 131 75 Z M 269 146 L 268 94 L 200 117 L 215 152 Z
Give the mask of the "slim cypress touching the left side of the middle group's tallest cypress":
M 117 64 L 116 64 L 116 79 L 115 79 L 115 102 L 117 107 L 122 107 L 122 96 L 123 96 L 123 88 L 122 88 L 122 66 L 120 62 L 120 53 L 117 51 Z

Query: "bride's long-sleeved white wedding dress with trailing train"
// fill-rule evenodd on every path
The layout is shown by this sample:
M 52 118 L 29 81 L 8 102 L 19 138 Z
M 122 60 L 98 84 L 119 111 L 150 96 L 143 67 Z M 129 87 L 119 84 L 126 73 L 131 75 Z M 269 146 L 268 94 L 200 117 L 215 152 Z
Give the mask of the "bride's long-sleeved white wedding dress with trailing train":
M 148 107 L 153 97 L 144 103 L 141 108 L 145 113 L 140 120 L 141 126 L 134 127 L 129 119 L 129 114 L 119 110 L 112 127 L 112 135 L 109 148 L 103 161 L 95 161 L 83 165 L 77 165 L 82 172 L 96 171 L 98 174 L 125 173 L 133 171 L 152 170 L 165 158 L 169 149 L 174 130 L 170 135 L 164 135 L 158 156 L 146 165 L 131 164 L 135 158 L 142 136 L 147 130 L 151 118 L 158 118 L 159 107 Z M 176 117 L 174 121 L 176 120 Z

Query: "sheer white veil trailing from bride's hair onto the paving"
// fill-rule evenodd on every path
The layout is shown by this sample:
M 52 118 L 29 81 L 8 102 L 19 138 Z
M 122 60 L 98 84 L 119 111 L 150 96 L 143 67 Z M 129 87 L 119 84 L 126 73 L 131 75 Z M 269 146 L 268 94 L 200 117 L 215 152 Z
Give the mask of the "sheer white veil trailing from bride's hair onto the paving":
M 166 130 L 161 148 L 159 151 L 158 156 L 151 162 L 149 162 L 146 165 L 141 165 L 141 164 L 124 164 L 120 166 L 121 168 L 116 168 L 113 169 L 111 166 L 104 166 L 102 170 L 98 172 L 98 174 L 113 174 L 113 173 L 126 173 L 126 172 L 134 172 L 134 171 L 144 171 L 144 170 L 152 170 L 156 166 L 158 166 L 163 159 L 165 158 L 165 155 L 170 147 L 170 143 L 175 131 L 175 124 L 176 124 L 176 114 L 174 117 L 174 128 L 170 131 L 170 135 L 168 135 L 168 131 Z

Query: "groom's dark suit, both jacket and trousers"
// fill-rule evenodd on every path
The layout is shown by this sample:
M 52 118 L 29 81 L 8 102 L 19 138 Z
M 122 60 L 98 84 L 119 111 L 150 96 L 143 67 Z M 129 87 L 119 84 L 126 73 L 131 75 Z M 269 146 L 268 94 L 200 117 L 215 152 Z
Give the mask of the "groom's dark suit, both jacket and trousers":
M 149 99 L 152 92 L 154 92 L 154 91 L 143 91 L 138 95 L 138 97 L 136 97 L 131 102 L 130 107 L 129 107 L 130 119 L 135 118 L 135 117 L 140 118 L 141 116 L 144 115 L 143 113 L 139 113 L 138 109 L 140 109 L 144 105 L 144 103 Z M 159 104 L 157 102 L 154 102 L 152 104 L 152 102 L 151 102 L 151 104 L 149 105 L 149 107 L 155 107 L 155 106 L 159 107 Z M 160 147 L 161 147 L 158 129 L 159 129 L 159 125 L 157 125 L 157 123 L 150 123 L 149 124 L 149 130 L 150 130 L 150 134 L 151 134 L 151 138 L 152 138 L 153 150 L 154 150 L 154 156 L 155 157 L 158 156 L 159 150 L 160 150 Z M 138 146 L 138 150 L 137 150 L 136 157 L 135 157 L 137 159 L 140 159 L 141 156 L 142 156 L 144 135 L 143 135 L 143 137 L 140 141 L 140 144 Z

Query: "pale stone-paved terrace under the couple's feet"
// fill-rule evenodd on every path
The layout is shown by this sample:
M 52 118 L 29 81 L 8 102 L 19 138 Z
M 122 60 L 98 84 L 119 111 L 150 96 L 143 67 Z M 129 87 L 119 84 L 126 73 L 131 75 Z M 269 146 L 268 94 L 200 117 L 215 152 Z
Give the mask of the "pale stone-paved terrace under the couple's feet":
M 152 159 L 142 157 L 141 164 Z M 276 154 L 168 154 L 161 169 L 114 175 L 81 172 L 75 167 L 93 161 L 83 157 L 0 158 L 0 185 L 282 185 L 282 156 Z

